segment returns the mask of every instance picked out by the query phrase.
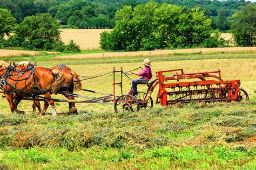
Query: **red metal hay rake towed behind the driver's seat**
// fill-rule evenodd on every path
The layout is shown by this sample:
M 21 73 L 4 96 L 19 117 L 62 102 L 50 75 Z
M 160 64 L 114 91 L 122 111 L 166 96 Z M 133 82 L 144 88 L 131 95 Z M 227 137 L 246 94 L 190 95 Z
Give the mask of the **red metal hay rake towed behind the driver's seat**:
M 181 73 L 167 76 L 170 72 Z M 175 103 L 215 102 L 215 101 L 242 101 L 248 100 L 248 94 L 244 89 L 239 89 L 240 80 L 224 81 L 221 79 L 220 70 L 214 72 L 186 73 L 183 69 L 164 70 L 157 72 L 158 79 L 148 90 L 151 95 L 153 89 L 159 85 L 157 101 L 161 105 Z M 207 80 L 206 80 L 207 78 Z M 214 80 L 208 80 L 213 78 Z M 199 79 L 200 81 L 184 81 Z M 176 81 L 167 83 L 168 81 Z

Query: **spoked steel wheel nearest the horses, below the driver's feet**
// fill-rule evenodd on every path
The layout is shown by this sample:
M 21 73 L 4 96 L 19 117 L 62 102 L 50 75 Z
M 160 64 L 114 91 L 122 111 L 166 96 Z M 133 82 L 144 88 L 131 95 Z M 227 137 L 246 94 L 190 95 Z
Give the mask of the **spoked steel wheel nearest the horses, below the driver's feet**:
M 119 96 L 114 102 L 114 111 L 139 111 L 139 102 L 136 97 L 132 95 Z

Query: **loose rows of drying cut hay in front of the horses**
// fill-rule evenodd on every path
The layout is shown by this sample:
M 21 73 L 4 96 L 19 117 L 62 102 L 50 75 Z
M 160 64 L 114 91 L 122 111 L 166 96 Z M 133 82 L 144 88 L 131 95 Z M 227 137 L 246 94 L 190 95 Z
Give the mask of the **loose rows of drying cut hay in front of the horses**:
M 153 108 L 150 111 L 85 112 L 78 116 L 0 116 L 0 141 L 11 147 L 105 146 L 139 150 L 170 145 L 242 142 L 256 134 L 251 103 L 213 103 L 204 107 Z M 220 105 L 225 109 L 220 109 Z M 235 111 L 233 107 L 237 108 Z M 195 109 L 196 108 L 196 109 Z

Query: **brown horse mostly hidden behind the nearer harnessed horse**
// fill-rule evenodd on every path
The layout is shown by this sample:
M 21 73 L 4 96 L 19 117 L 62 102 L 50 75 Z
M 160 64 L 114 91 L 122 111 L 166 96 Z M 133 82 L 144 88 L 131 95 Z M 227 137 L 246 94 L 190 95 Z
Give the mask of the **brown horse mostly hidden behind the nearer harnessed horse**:
M 28 67 L 31 67 L 33 65 L 31 65 L 31 63 L 28 61 L 23 61 L 23 62 L 19 62 L 17 64 L 14 63 L 14 66 L 17 69 L 25 70 L 25 69 L 28 69 Z M 66 95 L 64 95 L 64 96 L 66 98 L 68 98 L 69 100 L 74 100 L 75 98 L 68 94 L 74 93 L 74 92 L 77 93 L 82 89 L 82 83 L 80 82 L 77 73 L 65 65 L 55 66 L 50 69 L 63 73 L 63 75 L 65 77 L 65 81 L 64 81 L 64 85 L 62 86 L 62 88 L 59 89 L 59 91 L 66 93 Z M 40 103 L 36 102 L 36 101 L 33 102 L 32 107 L 33 107 L 33 113 L 35 113 L 36 108 L 38 108 L 38 110 L 41 109 Z M 72 113 L 77 114 L 77 109 L 75 107 L 75 103 L 69 102 L 69 114 L 72 114 Z

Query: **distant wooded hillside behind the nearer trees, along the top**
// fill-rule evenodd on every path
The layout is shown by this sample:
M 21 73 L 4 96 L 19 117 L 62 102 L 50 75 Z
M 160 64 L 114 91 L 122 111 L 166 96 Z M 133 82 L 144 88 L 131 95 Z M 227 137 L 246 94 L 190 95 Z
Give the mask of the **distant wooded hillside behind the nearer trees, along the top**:
M 0 8 L 11 11 L 21 23 L 26 16 L 49 12 L 53 18 L 61 20 L 72 28 L 110 28 L 115 25 L 115 12 L 124 5 L 133 8 L 151 0 L 0 0 Z M 187 8 L 199 7 L 208 18 L 211 27 L 226 32 L 234 22 L 232 15 L 250 2 L 245 1 L 194 1 L 155 0 L 157 3 L 176 4 Z

